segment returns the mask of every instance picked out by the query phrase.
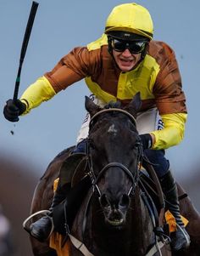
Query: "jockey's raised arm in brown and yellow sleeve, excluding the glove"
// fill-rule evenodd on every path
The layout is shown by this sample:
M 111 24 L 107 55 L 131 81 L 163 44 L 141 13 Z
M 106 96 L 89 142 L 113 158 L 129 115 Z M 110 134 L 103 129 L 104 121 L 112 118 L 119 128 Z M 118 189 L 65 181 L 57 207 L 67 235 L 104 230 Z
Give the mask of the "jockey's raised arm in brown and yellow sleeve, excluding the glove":
M 89 52 L 86 48 L 75 48 L 69 54 L 65 55 L 52 71 L 44 74 L 36 82 L 32 83 L 22 94 L 20 100 L 25 103 L 26 111 L 23 115 L 31 111 L 31 109 L 40 105 L 43 101 L 53 98 L 59 91 L 67 88 L 69 85 L 80 81 L 89 76 L 91 67 L 93 67 L 93 57 L 89 60 Z M 86 65 L 86 61 L 90 65 Z M 96 59 L 95 59 L 96 60 Z

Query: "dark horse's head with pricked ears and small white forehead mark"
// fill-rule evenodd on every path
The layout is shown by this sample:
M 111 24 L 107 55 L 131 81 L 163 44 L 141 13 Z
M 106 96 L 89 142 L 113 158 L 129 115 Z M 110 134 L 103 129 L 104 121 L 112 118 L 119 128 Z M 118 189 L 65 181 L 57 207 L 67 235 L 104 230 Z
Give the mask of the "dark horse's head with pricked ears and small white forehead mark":
M 109 225 L 125 224 L 131 191 L 138 179 L 141 140 L 136 130 L 136 112 L 140 94 L 120 109 L 107 105 L 100 109 L 86 97 L 91 115 L 87 153 L 93 185 Z

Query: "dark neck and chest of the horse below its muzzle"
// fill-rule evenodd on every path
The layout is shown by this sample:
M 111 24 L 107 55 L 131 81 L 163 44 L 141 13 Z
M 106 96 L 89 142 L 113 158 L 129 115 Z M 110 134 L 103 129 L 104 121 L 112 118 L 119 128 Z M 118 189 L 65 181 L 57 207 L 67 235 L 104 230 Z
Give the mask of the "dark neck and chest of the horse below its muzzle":
M 111 229 L 105 225 L 104 216 L 100 209 L 97 199 L 93 199 L 90 210 L 86 219 L 86 232 L 84 241 L 88 242 L 88 246 L 92 251 L 102 252 L 97 255 L 107 254 L 105 252 L 119 252 L 114 255 L 143 255 L 146 253 L 147 247 L 151 243 L 151 234 L 153 227 L 149 219 L 147 208 L 139 196 L 139 190 L 131 198 L 130 211 L 127 213 L 126 225 L 124 229 Z M 134 254 L 132 253 L 134 252 Z M 96 255 L 96 254 L 95 254 Z M 108 253 L 108 255 L 113 255 Z

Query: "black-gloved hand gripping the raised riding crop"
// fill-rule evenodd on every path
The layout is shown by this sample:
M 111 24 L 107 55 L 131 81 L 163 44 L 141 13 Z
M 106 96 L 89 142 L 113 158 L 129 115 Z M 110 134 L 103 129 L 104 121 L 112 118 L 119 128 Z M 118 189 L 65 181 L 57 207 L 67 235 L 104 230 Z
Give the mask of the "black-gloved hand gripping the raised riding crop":
M 20 100 L 7 100 L 3 109 L 4 117 L 10 122 L 18 122 L 19 116 L 25 111 L 25 103 Z

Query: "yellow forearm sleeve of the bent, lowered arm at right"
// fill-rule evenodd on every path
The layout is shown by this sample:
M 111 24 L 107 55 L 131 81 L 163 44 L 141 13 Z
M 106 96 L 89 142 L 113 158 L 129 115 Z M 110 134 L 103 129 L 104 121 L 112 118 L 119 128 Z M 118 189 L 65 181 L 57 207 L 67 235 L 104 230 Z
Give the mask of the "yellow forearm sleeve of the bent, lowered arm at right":
M 161 115 L 164 129 L 151 132 L 155 136 L 153 150 L 167 149 L 180 144 L 185 133 L 186 117 L 186 113 Z

